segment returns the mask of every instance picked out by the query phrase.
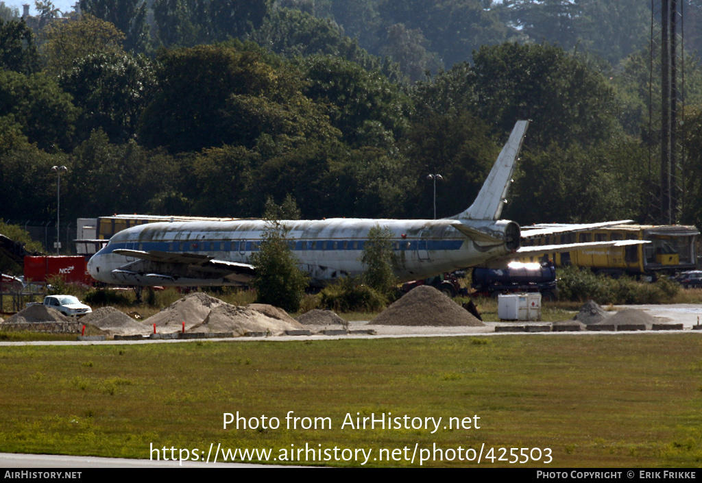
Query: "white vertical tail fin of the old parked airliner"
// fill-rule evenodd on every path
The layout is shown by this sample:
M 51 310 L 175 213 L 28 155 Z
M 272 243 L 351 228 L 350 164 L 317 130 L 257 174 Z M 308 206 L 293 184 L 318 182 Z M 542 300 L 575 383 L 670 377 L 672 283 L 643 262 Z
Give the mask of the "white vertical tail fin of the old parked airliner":
M 469 220 L 499 220 L 502 206 L 505 204 L 507 190 L 512 183 L 512 173 L 515 171 L 515 161 L 519 150 L 522 149 L 524 135 L 527 133 L 529 121 L 517 121 L 512 129 L 510 139 L 502 148 L 490 174 L 482 185 L 477 198 L 470 208 L 456 218 Z

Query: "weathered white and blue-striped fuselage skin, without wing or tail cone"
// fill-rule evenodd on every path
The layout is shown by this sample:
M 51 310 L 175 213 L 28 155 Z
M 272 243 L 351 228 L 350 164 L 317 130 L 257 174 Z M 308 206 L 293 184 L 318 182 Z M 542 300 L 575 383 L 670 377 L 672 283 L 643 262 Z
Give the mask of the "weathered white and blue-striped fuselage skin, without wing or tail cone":
M 234 220 L 208 223 L 151 223 L 119 232 L 104 249 L 91 258 L 88 270 L 95 279 L 107 283 L 148 285 L 140 279 L 111 273 L 134 258 L 113 253 L 116 249 L 197 253 L 216 260 L 251 263 L 258 250 L 265 220 Z M 360 262 L 369 230 L 376 225 L 392 232 L 392 246 L 399 260 L 397 277 L 402 281 L 430 277 L 482 263 L 510 253 L 505 244 L 481 246 L 458 232 L 456 220 L 329 220 L 282 221 L 286 239 L 300 268 L 310 274 L 313 284 L 364 271 Z M 96 267 L 100 267 L 100 272 Z M 168 281 L 161 284 L 168 285 Z M 187 280 L 172 285 L 227 285 L 236 282 L 221 277 Z

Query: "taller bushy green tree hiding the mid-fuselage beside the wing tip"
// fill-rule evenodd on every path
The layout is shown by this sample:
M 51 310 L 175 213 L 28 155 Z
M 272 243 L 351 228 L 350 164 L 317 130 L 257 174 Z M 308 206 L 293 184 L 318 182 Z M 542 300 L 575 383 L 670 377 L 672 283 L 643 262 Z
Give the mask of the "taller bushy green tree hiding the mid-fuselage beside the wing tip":
M 258 251 L 251 255 L 256 266 L 256 302 L 297 312 L 305 297 L 307 275 L 300 271 L 285 235 L 284 226 L 270 220 L 261 235 Z

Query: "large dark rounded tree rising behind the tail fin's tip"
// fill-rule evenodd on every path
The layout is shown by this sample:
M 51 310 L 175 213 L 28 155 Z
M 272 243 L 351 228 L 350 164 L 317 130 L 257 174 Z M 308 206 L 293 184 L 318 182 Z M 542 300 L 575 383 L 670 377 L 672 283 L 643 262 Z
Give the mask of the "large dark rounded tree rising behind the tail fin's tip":
M 548 44 L 482 46 L 473 55 L 477 111 L 503 131 L 531 119 L 525 145 L 592 145 L 616 133 L 614 89 L 581 59 Z

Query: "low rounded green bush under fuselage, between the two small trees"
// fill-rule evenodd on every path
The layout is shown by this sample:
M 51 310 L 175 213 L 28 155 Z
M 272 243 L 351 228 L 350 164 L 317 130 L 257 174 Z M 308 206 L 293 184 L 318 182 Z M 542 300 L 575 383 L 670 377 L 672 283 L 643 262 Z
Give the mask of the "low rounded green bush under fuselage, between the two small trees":
M 356 279 L 345 277 L 322 290 L 319 305 L 335 312 L 380 312 L 388 305 L 388 298 Z

